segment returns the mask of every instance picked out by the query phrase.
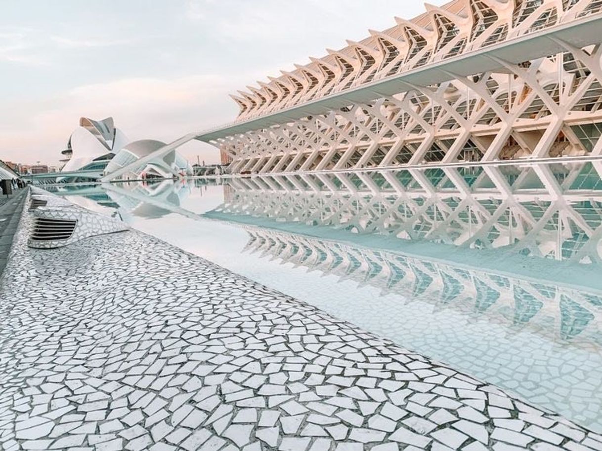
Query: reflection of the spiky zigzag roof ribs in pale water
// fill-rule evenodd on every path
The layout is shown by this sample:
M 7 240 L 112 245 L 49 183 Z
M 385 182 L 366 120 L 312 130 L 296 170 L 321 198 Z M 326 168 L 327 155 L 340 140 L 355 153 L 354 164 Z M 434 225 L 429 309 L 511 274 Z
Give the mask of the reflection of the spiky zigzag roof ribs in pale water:
M 602 293 L 275 230 L 248 232 L 245 251 L 378 287 L 382 295 L 402 293 L 409 301 L 435 302 L 438 308 L 487 313 L 517 328 L 529 324 L 561 339 L 572 339 L 591 324 L 589 335 L 602 339 Z

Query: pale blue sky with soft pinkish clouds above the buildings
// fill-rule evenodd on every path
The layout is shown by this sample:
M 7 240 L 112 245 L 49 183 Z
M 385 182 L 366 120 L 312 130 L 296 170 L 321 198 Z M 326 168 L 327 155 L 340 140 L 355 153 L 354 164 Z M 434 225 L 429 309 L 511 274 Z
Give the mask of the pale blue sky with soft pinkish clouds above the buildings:
M 228 94 L 423 12 L 418 0 L 0 0 L 0 159 L 58 165 L 81 116 L 166 143 L 229 123 Z M 219 161 L 198 141 L 181 152 Z

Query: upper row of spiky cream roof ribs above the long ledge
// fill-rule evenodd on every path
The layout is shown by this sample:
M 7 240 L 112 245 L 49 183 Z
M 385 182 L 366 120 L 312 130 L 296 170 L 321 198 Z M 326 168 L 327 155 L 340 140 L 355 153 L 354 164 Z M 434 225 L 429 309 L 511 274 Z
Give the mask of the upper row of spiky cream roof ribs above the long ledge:
M 426 5 L 412 20 L 396 18 L 385 31 L 370 30 L 360 42 L 311 58 L 293 72 L 258 82 L 232 99 L 246 120 L 293 104 L 318 99 L 396 73 L 483 49 L 492 44 L 571 23 L 597 14 L 597 0 L 453 0 L 443 7 Z

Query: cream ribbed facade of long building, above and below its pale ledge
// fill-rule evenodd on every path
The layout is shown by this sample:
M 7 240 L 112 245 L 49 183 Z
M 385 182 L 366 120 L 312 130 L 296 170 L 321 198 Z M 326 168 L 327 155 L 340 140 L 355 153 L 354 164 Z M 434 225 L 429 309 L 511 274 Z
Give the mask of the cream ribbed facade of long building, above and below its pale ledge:
M 237 121 L 327 99 L 494 44 L 579 23 L 601 0 L 455 0 L 427 5 L 413 20 L 296 66 L 232 96 Z M 232 173 L 345 170 L 458 161 L 602 155 L 600 45 L 508 63 L 437 85 L 405 85 L 369 103 L 350 103 L 219 138 Z M 403 91 L 402 91 L 403 89 Z

